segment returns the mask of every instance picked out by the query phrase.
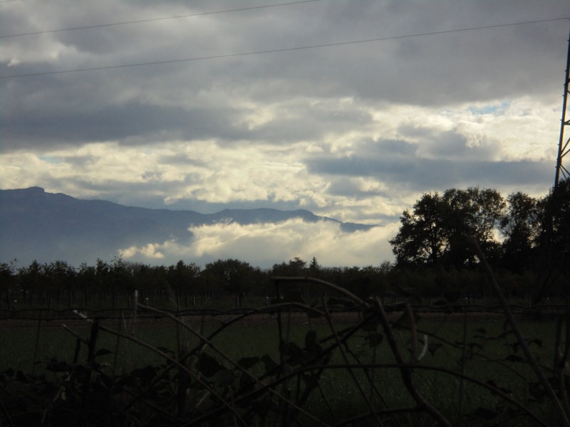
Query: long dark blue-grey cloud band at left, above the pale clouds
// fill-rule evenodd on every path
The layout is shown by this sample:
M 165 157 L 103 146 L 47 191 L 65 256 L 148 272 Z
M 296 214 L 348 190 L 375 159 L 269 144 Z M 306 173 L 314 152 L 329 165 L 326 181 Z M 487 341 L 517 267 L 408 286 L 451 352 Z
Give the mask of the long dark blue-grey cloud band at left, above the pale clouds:
M 226 111 L 231 116 L 232 111 Z M 124 105 L 85 105 L 77 110 L 36 106 L 25 115 L 1 115 L 4 149 L 42 147 L 44 144 L 123 141 L 143 144 L 161 139 L 234 139 L 244 132 L 229 125 L 223 109 L 212 111 L 184 107 L 147 105 L 130 101 Z M 137 139 L 137 137 L 145 137 Z

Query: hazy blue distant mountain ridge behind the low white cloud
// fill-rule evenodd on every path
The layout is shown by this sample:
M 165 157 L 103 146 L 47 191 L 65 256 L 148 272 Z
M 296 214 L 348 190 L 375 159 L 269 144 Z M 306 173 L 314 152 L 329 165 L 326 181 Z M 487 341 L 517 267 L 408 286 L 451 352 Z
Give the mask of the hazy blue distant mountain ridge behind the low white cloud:
M 0 262 L 14 258 L 28 263 L 66 260 L 93 262 L 112 258 L 119 248 L 162 243 L 173 238 L 191 241 L 191 226 L 214 223 L 280 223 L 301 218 L 307 223 L 333 221 L 347 233 L 373 227 L 343 223 L 310 211 L 224 209 L 215 214 L 123 206 L 110 201 L 75 199 L 46 193 L 40 187 L 0 190 Z

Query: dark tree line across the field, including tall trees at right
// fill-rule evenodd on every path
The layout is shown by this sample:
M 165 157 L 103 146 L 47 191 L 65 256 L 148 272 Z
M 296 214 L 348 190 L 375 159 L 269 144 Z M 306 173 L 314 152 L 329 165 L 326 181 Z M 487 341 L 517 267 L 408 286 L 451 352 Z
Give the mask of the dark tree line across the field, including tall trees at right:
M 480 292 L 487 280 L 466 236 L 475 236 L 509 294 L 529 295 L 537 288 L 545 265 L 570 249 L 570 179 L 560 181 L 556 192 L 533 198 L 517 192 L 504 198 L 494 189 L 472 187 L 423 194 L 400 217 L 401 226 L 390 240 L 395 263 L 384 261 L 365 267 L 325 267 L 316 258 L 276 263 L 261 269 L 237 259 L 217 260 L 200 267 L 192 262 L 175 265 L 131 263 L 120 257 L 111 262 L 78 268 L 63 260 L 17 261 L 0 264 L 0 292 L 31 294 L 73 290 L 105 292 L 175 292 L 177 295 L 271 295 L 272 277 L 310 276 L 341 285 L 361 297 L 372 293 Z M 545 258 L 546 257 L 546 258 Z M 568 280 L 564 262 L 558 263 L 552 290 Z M 567 270 L 567 267 L 566 267 Z M 564 282 L 566 280 L 566 282 Z M 312 297 L 318 295 L 313 290 Z M 309 297 L 310 290 L 306 290 Z M 59 295 L 59 294 L 58 294 Z M 113 300 L 114 301 L 114 300 Z

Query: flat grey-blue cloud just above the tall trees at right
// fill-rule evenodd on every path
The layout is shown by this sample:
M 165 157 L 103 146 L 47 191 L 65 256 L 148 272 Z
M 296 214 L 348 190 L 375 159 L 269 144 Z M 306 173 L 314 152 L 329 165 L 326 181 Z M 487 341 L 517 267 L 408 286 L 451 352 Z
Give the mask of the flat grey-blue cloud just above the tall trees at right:
M 377 179 L 392 194 L 394 189 L 430 191 L 453 186 L 527 186 L 551 181 L 550 162 L 495 162 L 494 147 L 467 147 L 465 140 L 452 132 L 440 136 L 437 143 L 428 140 L 420 144 L 366 140 L 358 147 L 358 154 L 324 154 L 308 158 L 305 163 L 314 174 Z M 430 157 L 420 156 L 420 152 Z M 328 187 L 330 194 L 349 195 L 351 191 L 355 195 L 366 193 L 343 178 L 336 178 Z

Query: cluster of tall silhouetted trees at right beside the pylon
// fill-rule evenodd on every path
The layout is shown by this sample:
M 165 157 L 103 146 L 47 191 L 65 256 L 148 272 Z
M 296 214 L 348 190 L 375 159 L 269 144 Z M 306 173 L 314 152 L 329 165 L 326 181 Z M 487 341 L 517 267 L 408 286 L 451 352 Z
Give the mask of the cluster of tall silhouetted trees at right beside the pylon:
M 390 240 L 398 268 L 472 268 L 477 264 L 467 236 L 479 241 L 494 268 L 536 270 L 544 254 L 570 248 L 570 179 L 546 196 L 522 192 L 505 199 L 497 190 L 471 187 L 423 194 L 400 217 Z

